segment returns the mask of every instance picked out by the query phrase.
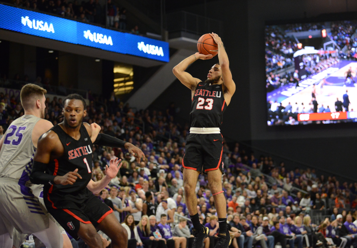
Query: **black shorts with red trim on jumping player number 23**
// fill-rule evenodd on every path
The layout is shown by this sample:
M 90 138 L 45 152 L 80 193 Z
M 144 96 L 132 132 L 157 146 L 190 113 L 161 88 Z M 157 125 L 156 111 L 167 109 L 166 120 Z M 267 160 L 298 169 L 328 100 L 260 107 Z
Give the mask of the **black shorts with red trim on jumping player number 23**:
M 223 174 L 222 134 L 188 134 L 182 167 L 207 174 L 220 169 Z

